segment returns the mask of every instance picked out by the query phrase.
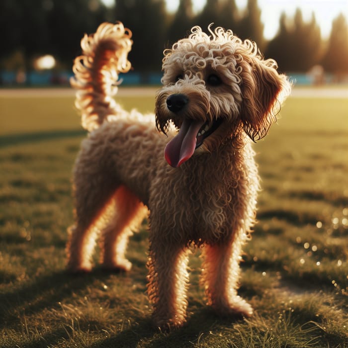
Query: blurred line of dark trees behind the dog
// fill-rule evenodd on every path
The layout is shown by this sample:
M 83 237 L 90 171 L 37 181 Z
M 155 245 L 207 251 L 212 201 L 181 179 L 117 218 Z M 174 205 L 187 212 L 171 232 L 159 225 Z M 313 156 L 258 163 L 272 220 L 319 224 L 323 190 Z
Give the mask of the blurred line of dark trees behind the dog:
M 206 30 L 216 26 L 232 29 L 242 39 L 256 41 L 266 58 L 274 58 L 281 71 L 306 72 L 321 64 L 327 72 L 348 73 L 348 25 L 343 14 L 332 25 L 329 40 L 322 39 L 313 14 L 305 22 L 300 9 L 294 17 L 279 18 L 275 37 L 262 35 L 261 10 L 257 0 L 239 9 L 235 0 L 207 0 L 194 13 L 191 0 L 180 0 L 176 13 L 168 13 L 165 0 L 116 0 L 106 7 L 100 0 L 1 0 L 2 40 L 0 69 L 33 69 L 40 55 L 51 54 L 58 68 L 70 69 L 80 54 L 84 33 L 94 32 L 103 21 L 120 20 L 133 32 L 130 60 L 135 71 L 158 71 L 163 50 L 189 33 L 193 25 Z

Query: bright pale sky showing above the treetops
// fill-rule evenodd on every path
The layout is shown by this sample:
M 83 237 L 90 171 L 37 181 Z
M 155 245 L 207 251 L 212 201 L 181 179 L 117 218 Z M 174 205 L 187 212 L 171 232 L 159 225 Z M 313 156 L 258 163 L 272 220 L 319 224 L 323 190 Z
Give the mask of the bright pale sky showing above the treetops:
M 170 11 L 175 11 L 179 0 L 166 0 Z M 240 9 L 246 7 L 247 0 L 235 0 Z M 111 4 L 114 0 L 103 0 Z M 203 8 L 205 0 L 192 0 L 195 11 Z M 329 38 L 332 20 L 342 12 L 348 18 L 348 0 L 258 0 L 261 9 L 261 20 L 264 24 L 263 35 L 266 39 L 271 39 L 277 33 L 279 17 L 281 12 L 285 12 L 292 17 L 297 7 L 303 14 L 303 19 L 309 21 L 312 12 L 315 13 L 316 21 L 320 26 L 321 34 L 324 39 Z M 215 23 L 218 25 L 218 23 Z M 232 29 L 233 28 L 226 28 Z

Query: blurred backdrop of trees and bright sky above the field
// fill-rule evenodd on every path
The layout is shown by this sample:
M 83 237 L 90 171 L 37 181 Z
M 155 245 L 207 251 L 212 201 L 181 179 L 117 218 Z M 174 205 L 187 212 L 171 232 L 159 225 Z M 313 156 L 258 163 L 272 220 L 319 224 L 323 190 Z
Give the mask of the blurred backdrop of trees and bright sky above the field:
M 67 86 L 84 33 L 133 32 L 125 85 L 157 85 L 163 50 L 193 25 L 257 42 L 297 84 L 348 82 L 347 0 L 1 0 L 0 86 Z

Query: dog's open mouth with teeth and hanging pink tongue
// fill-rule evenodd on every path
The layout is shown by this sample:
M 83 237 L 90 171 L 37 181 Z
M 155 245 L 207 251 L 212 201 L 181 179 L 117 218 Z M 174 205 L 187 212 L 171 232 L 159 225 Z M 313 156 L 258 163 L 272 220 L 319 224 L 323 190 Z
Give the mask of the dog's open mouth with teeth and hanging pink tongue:
M 179 132 L 165 148 L 165 158 L 168 164 L 176 168 L 187 161 L 193 155 L 194 150 L 200 147 L 204 139 L 215 132 L 221 123 L 221 118 L 210 123 L 185 118 Z

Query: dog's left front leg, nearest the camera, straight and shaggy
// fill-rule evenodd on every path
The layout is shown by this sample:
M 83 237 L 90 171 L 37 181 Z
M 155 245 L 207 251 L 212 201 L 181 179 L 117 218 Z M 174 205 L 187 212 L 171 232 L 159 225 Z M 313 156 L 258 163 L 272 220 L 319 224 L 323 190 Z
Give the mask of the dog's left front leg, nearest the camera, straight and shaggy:
M 164 330 L 180 327 L 186 320 L 188 252 L 170 242 L 150 241 L 148 295 L 154 324 Z

